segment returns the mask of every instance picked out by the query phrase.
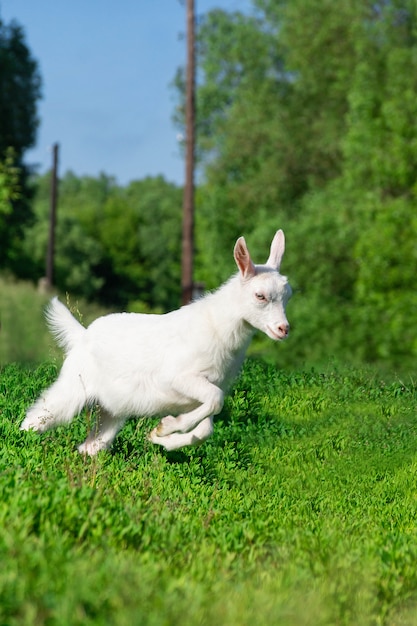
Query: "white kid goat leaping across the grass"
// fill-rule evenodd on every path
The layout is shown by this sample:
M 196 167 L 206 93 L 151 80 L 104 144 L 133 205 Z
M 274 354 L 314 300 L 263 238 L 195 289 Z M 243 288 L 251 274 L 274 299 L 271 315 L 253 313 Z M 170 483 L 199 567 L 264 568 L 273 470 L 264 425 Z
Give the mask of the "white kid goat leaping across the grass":
M 284 248 L 279 230 L 266 264 L 254 265 L 240 237 L 234 248 L 239 273 L 214 293 L 165 315 L 118 313 L 84 328 L 54 298 L 46 317 L 66 359 L 21 429 L 44 432 L 70 422 L 84 405 L 97 404 L 97 424 L 79 446 L 81 453 L 108 448 L 134 415 L 168 413 L 149 435 L 167 450 L 202 443 L 213 432 L 213 416 L 222 409 L 255 329 L 274 340 L 288 335 L 291 288 L 278 271 Z

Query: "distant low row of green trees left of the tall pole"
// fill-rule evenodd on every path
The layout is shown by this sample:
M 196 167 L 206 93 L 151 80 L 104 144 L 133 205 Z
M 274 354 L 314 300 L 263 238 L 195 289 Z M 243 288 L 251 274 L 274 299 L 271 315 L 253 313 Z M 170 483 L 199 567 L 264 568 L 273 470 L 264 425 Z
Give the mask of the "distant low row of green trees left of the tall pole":
M 27 277 L 43 275 L 49 175 L 36 179 L 36 221 L 26 230 Z M 55 283 L 90 300 L 175 308 L 180 297 L 181 190 L 162 177 L 119 187 L 65 174 L 59 185 Z

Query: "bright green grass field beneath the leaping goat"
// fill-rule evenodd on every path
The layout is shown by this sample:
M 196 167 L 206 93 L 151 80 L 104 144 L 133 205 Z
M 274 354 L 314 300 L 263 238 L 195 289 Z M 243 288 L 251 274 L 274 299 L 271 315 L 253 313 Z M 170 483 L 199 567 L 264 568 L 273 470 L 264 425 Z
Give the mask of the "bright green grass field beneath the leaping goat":
M 417 624 L 412 381 L 249 360 L 202 447 L 89 459 L 18 429 L 56 373 L 0 372 L 0 624 Z

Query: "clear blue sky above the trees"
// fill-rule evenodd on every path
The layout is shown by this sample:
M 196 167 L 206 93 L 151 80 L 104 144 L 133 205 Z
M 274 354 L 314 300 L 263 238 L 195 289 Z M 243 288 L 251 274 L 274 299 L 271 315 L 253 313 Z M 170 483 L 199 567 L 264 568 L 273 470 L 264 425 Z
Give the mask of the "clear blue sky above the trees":
M 196 0 L 202 14 L 247 10 L 249 0 Z M 59 173 L 130 180 L 162 174 L 182 184 L 184 164 L 170 87 L 186 58 L 186 8 L 180 0 L 0 0 L 39 64 L 40 128 L 26 161 Z

